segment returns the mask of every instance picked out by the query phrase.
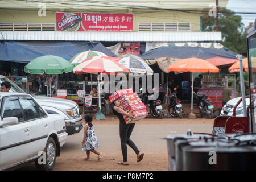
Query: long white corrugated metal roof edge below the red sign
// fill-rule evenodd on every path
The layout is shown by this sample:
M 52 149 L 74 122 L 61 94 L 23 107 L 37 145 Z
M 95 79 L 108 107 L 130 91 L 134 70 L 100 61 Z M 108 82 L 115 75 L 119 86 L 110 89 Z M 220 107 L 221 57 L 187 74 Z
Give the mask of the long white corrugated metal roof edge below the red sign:
M 2 31 L 0 40 L 203 42 L 221 41 L 221 32 Z

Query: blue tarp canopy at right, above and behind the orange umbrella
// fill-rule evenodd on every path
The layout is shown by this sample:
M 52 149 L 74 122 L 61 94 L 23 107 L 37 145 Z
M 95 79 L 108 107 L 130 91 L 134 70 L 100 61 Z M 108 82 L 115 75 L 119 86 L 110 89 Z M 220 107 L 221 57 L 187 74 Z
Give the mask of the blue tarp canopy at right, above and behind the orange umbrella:
M 228 59 L 236 59 L 237 53 L 230 51 L 225 47 L 219 46 L 220 48 L 214 48 L 214 46 L 210 45 L 214 43 L 204 43 L 204 44 L 209 44 L 209 46 L 200 46 L 201 43 L 195 43 L 190 46 L 186 44 L 188 43 L 179 43 L 177 45 L 176 44 L 163 45 L 143 53 L 141 57 L 146 60 L 155 60 L 159 57 L 170 57 L 170 58 L 179 58 L 179 59 L 196 57 L 199 59 L 210 59 L 216 56 L 224 57 Z M 209 47 L 209 48 L 206 48 L 206 47 Z

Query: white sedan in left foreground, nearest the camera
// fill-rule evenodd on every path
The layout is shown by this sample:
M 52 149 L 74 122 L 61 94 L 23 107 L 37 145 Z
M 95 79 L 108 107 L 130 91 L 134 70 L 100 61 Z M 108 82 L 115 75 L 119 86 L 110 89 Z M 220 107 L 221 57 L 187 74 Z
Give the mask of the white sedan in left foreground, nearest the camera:
M 35 162 L 51 170 L 68 134 L 59 114 L 47 114 L 29 94 L 0 93 L 0 170 Z

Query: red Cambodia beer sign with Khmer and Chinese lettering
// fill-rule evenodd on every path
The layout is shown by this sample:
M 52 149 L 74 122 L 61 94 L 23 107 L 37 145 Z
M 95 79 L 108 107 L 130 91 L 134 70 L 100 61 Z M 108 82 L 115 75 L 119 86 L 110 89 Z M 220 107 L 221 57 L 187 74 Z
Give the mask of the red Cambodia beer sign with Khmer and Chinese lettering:
M 56 13 L 57 31 L 133 31 L 133 14 Z

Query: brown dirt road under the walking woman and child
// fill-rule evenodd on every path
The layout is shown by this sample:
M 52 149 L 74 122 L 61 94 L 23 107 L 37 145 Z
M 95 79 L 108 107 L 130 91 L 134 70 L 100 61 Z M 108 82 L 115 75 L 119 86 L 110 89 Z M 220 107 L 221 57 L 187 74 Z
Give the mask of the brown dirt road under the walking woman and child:
M 83 130 L 79 134 L 69 136 L 61 148 L 61 155 L 56 159 L 54 170 L 168 170 L 168 152 L 166 140 L 161 139 L 167 135 L 185 134 L 191 131 L 211 133 L 213 119 L 154 119 L 146 118 L 138 122 L 131 140 L 139 150 L 145 153 L 144 159 L 137 163 L 137 156 L 131 148 L 127 147 L 129 166 L 120 166 L 122 152 L 119 140 L 119 120 L 110 116 L 103 121 L 93 121 L 94 130 L 100 142 L 98 151 L 104 153 L 100 162 L 97 156 L 91 154 L 90 161 L 85 161 L 86 154 L 82 153 L 81 141 Z M 20 168 L 34 170 L 34 164 Z

